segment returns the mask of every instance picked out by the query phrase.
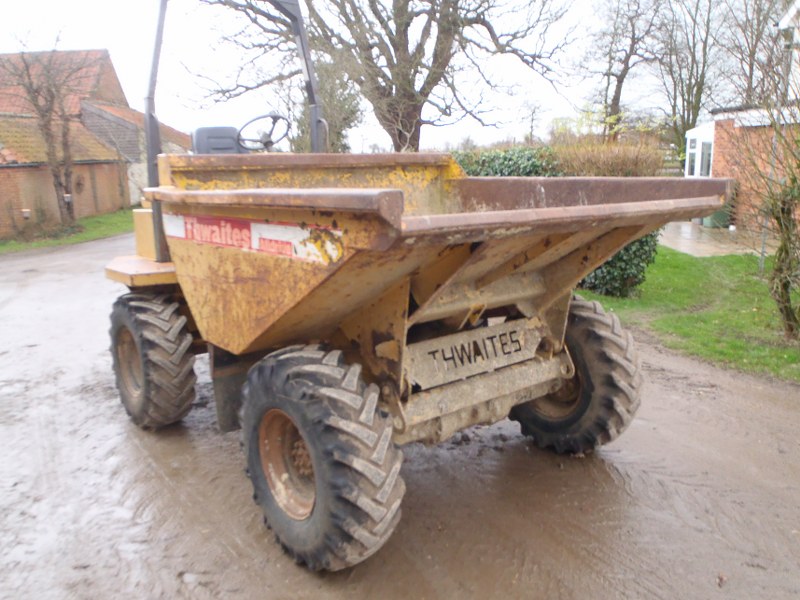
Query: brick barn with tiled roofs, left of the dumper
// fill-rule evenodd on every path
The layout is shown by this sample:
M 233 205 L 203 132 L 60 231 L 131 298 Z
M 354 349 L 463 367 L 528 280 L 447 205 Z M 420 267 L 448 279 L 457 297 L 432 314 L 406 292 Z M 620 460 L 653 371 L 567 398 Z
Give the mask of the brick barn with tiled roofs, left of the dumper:
M 54 69 L 73 67 L 75 72 L 65 105 L 74 119 L 70 133 L 76 217 L 138 202 L 147 179 L 144 115 L 130 108 L 108 51 L 39 56 Z M 20 55 L 0 54 L 0 63 L 4 61 L 19 64 Z M 59 220 L 47 148 L 32 112 L 9 70 L 0 68 L 0 239 L 13 237 L 30 224 Z M 161 137 L 166 152 L 185 152 L 191 146 L 187 134 L 170 127 L 161 127 Z

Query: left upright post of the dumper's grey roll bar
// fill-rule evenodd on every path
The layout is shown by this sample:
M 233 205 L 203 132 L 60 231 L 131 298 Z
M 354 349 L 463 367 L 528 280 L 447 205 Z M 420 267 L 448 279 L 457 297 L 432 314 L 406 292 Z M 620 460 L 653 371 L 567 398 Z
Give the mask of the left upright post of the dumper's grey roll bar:
M 159 185 L 157 157 L 161 154 L 161 132 L 159 131 L 158 118 L 156 117 L 155 96 L 166 15 L 167 0 L 161 0 L 156 41 L 153 49 L 153 63 L 150 68 L 150 84 L 147 87 L 147 98 L 145 99 L 144 135 L 147 144 L 147 185 L 149 187 L 157 187 Z M 158 200 L 153 201 L 153 234 L 156 244 L 156 262 L 169 262 L 169 247 L 167 246 L 167 238 L 164 235 L 164 222 L 161 219 L 161 202 Z

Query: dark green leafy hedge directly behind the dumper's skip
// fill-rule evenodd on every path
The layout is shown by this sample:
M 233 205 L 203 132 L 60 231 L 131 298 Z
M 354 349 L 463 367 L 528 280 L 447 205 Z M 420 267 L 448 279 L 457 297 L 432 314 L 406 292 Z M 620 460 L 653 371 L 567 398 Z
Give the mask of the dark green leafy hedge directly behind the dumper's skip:
M 574 174 L 563 171 L 556 151 L 547 146 L 454 152 L 453 156 L 467 175 L 473 177 L 557 177 Z M 657 245 L 658 232 L 630 243 L 590 273 L 579 286 L 606 296 L 630 296 L 637 286 L 644 283 L 647 266 L 655 261 Z

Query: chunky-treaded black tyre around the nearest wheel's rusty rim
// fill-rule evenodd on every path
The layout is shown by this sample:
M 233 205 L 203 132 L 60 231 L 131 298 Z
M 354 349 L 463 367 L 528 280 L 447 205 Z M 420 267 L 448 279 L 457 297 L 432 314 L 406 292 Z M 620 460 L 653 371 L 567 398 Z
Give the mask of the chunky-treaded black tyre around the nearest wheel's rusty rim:
M 329 522 L 334 525 L 324 532 L 320 547 L 293 548 L 289 536 L 272 527 L 284 550 L 312 570 L 335 571 L 365 560 L 386 543 L 400 519 L 403 455 L 391 442 L 391 421 L 379 412 L 378 388 L 366 385 L 361 371 L 359 364 L 347 365 L 339 350 L 302 346 L 262 359 L 245 385 L 241 422 L 246 456 L 253 455 L 250 444 L 257 436 L 252 437 L 252 428 L 260 419 L 263 390 L 270 390 L 273 396 L 303 403 L 318 427 L 312 434 L 331 469 L 341 474 L 331 482 L 335 500 Z M 257 489 L 253 471 L 250 465 Z M 265 515 L 269 525 L 266 509 Z

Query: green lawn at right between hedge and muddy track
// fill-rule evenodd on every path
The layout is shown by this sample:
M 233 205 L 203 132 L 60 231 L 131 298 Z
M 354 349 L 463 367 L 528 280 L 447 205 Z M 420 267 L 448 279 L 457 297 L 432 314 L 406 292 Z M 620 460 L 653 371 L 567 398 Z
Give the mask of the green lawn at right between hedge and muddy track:
M 770 264 L 767 263 L 766 273 Z M 786 342 L 756 256 L 696 258 L 659 246 L 636 298 L 582 291 L 623 323 L 676 350 L 751 373 L 800 381 L 800 344 Z

